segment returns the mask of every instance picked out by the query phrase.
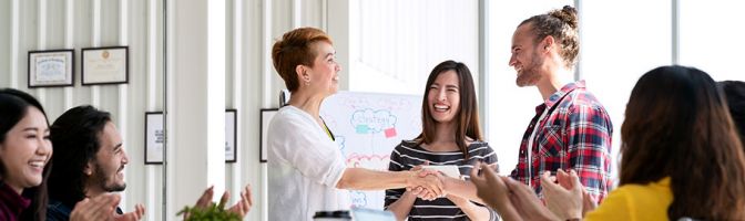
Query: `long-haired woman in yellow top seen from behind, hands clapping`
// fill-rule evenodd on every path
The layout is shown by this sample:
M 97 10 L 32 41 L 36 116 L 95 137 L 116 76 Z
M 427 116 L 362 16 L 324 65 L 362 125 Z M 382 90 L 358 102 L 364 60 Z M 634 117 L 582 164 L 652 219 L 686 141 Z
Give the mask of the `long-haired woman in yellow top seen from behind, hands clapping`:
M 724 97 L 705 72 L 647 72 L 625 114 L 620 187 L 596 210 L 583 203 L 591 200 L 583 200 L 588 194 L 574 171 L 558 171 L 558 183 L 542 177 L 543 207 L 530 188 L 477 165 L 483 172 L 471 180 L 479 197 L 504 220 L 745 220 L 745 154 Z

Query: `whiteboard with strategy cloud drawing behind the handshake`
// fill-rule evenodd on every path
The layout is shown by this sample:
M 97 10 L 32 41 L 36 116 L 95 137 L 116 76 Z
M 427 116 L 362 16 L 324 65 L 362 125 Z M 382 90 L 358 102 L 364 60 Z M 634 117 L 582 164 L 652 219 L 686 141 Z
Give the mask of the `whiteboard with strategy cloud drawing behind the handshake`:
M 388 170 L 390 152 L 421 133 L 421 96 L 339 92 L 320 116 L 334 133 L 347 167 Z M 356 208 L 382 210 L 385 191 L 349 191 Z

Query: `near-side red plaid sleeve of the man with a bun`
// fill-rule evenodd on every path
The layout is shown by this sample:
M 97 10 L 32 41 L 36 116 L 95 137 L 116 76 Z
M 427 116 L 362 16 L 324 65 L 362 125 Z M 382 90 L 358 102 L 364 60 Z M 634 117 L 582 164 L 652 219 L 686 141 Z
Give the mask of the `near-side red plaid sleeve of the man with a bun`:
M 598 106 L 579 105 L 569 113 L 567 128 L 569 162 L 598 202 L 611 188 L 611 134 L 608 113 Z

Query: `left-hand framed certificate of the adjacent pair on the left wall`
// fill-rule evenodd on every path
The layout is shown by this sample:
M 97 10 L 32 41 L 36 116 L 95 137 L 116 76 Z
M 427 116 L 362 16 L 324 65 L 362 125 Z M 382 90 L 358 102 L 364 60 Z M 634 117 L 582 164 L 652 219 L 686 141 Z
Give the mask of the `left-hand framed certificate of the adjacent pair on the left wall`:
M 75 50 L 29 51 L 29 88 L 74 86 Z

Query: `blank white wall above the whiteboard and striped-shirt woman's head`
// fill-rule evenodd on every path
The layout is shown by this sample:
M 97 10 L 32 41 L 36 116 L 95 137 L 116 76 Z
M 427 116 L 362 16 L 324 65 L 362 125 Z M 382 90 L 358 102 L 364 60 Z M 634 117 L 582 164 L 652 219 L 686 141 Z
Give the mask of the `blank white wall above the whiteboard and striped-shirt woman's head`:
M 465 63 L 479 91 L 479 1 L 349 2 L 351 66 L 343 77 L 350 91 L 422 95 L 446 60 Z

